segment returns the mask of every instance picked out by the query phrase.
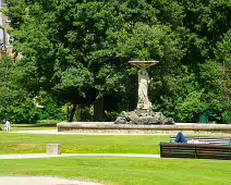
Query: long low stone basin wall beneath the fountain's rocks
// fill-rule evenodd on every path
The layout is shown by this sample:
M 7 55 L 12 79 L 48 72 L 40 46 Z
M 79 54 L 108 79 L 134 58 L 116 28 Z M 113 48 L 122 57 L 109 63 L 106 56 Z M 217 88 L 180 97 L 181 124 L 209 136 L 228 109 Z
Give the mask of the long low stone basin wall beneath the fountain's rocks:
M 62 122 L 59 132 L 76 132 L 93 134 L 184 134 L 210 135 L 231 134 L 231 125 L 177 123 L 175 125 L 127 125 L 113 122 Z

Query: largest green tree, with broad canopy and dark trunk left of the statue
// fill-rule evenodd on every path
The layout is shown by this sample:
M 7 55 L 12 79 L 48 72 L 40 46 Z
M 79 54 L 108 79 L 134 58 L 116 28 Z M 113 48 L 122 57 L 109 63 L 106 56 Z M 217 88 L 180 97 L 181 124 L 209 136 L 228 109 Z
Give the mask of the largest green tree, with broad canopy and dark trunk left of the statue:
M 15 50 L 35 67 L 37 87 L 52 90 L 73 108 L 95 102 L 98 120 L 106 95 L 125 95 L 129 75 L 135 72 L 129 60 L 161 60 L 167 66 L 182 55 L 179 35 L 185 30 L 177 2 L 14 2 L 9 0 Z

